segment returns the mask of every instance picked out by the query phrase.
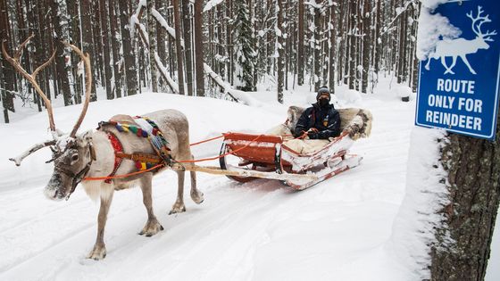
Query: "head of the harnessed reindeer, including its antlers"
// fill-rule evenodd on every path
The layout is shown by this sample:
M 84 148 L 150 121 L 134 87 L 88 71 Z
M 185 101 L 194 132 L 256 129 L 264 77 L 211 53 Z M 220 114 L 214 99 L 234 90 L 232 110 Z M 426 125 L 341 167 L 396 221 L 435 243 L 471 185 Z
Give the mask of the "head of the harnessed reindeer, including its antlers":
M 82 112 L 79 115 L 79 120 L 77 120 L 75 126 L 71 130 L 71 134 L 64 135 L 61 131 L 55 128 L 54 124 L 54 113 L 52 111 L 52 103 L 46 97 L 44 92 L 38 86 L 37 83 L 37 74 L 40 70 L 43 70 L 50 62 L 53 61 L 55 56 L 55 51 L 45 63 L 40 65 L 32 74 L 29 74 L 26 70 L 24 70 L 21 66 L 21 52 L 24 46 L 26 46 L 29 42 L 29 39 L 34 37 L 31 35 L 26 39 L 18 48 L 14 57 L 12 58 L 5 51 L 4 42 L 2 44 L 2 53 L 4 54 L 7 62 L 10 62 L 13 68 L 21 73 L 21 75 L 33 85 L 37 94 L 43 99 L 46 104 L 46 110 L 48 113 L 49 127 L 52 133 L 53 139 L 48 140 L 46 142 L 33 145 L 27 152 L 22 153 L 20 156 L 11 159 L 14 161 L 16 165 L 21 165 L 21 161 L 29 156 L 31 153 L 35 153 L 37 150 L 51 146 L 53 151 L 53 159 L 54 161 L 54 173 L 52 178 L 48 182 L 45 194 L 48 198 L 51 199 L 63 199 L 64 197 L 68 197 L 75 189 L 75 187 L 79 184 L 79 182 L 85 177 L 88 169 L 90 169 L 90 165 L 93 159 L 96 158 L 96 154 L 94 153 L 94 149 L 92 147 L 92 139 L 91 134 L 86 133 L 82 136 L 77 136 L 77 131 L 85 114 L 87 113 L 88 103 L 90 101 L 90 90 L 92 85 L 92 71 L 90 70 L 90 59 L 88 54 L 83 54 L 81 50 L 75 46 L 64 42 L 64 45 L 71 47 L 73 51 L 79 54 L 80 58 L 85 64 L 86 68 L 86 91 L 85 91 L 85 103 L 83 104 Z M 47 161 L 50 162 L 50 161 Z

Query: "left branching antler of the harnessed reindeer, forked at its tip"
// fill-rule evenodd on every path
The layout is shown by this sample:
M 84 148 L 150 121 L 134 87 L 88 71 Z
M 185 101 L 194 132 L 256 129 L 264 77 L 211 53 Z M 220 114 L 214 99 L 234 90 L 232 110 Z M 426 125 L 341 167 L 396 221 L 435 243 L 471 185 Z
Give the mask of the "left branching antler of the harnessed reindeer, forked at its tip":
M 21 66 L 21 52 L 22 49 L 28 44 L 29 40 L 34 37 L 34 34 L 31 34 L 31 36 L 28 37 L 24 42 L 22 42 L 21 45 L 17 48 L 16 53 L 14 54 L 14 57 L 12 58 L 9 54 L 7 54 L 7 51 L 5 50 L 5 42 L 2 42 L 2 53 L 4 54 L 5 60 L 7 62 L 10 62 L 12 64 L 12 67 L 17 70 L 21 75 L 33 85 L 35 90 L 37 91 L 37 94 L 40 95 L 42 100 L 44 100 L 44 103 L 46 103 L 46 109 L 48 112 L 48 123 L 50 126 L 50 130 L 53 134 L 53 136 L 56 136 L 56 131 L 55 131 L 55 124 L 54 124 L 54 113 L 52 112 L 52 103 L 50 100 L 46 97 L 46 94 L 42 91 L 40 86 L 37 83 L 37 74 L 44 68 L 46 68 L 47 65 L 50 64 L 54 60 L 55 57 L 55 50 L 48 59 L 48 61 L 44 62 L 42 65 L 38 66 L 35 71 L 33 71 L 32 74 L 29 74 L 28 71 L 24 70 Z

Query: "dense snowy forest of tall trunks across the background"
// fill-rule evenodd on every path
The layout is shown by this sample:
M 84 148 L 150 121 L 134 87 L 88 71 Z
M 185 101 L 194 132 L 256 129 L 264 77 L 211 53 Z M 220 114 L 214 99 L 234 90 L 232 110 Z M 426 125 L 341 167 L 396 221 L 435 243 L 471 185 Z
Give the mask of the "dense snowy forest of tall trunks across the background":
M 345 84 L 371 94 L 379 76 L 415 91 L 416 0 L 0 0 L 5 52 L 37 75 L 49 99 L 81 103 L 78 54 L 89 54 L 91 96 L 141 91 L 239 101 L 265 85 L 283 102 L 297 85 L 311 91 Z M 29 42 L 23 45 L 26 39 Z M 15 106 L 44 107 L 21 74 L 0 60 L 4 122 Z M 408 97 L 402 97 L 407 101 Z M 17 102 L 14 103 L 14 100 Z M 36 104 L 36 105 L 34 105 Z

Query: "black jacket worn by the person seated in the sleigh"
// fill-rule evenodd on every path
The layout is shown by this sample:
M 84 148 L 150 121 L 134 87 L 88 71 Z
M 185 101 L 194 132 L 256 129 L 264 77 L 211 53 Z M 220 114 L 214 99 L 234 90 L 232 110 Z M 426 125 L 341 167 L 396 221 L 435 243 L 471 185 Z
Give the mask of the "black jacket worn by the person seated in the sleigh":
M 333 104 L 325 107 L 320 107 L 318 103 L 312 104 L 312 107 L 306 109 L 300 116 L 294 135 L 301 136 L 310 128 L 318 130 L 318 133 L 308 134 L 311 139 L 327 139 L 340 135 L 340 115 Z

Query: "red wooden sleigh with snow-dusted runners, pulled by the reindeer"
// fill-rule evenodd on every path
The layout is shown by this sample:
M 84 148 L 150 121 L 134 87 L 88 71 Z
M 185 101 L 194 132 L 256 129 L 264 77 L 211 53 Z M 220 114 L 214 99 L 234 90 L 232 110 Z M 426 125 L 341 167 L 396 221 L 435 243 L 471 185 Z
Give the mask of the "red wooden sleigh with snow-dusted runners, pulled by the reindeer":
M 297 152 L 285 136 L 223 134 L 221 174 L 243 183 L 255 178 L 278 179 L 286 186 L 303 190 L 353 169 L 362 157 L 349 153 L 349 148 L 355 139 L 370 134 L 371 114 L 357 110 L 354 115 L 351 109 L 351 112 L 341 112 L 341 117 L 343 115 L 346 125 L 341 135 L 311 153 Z

